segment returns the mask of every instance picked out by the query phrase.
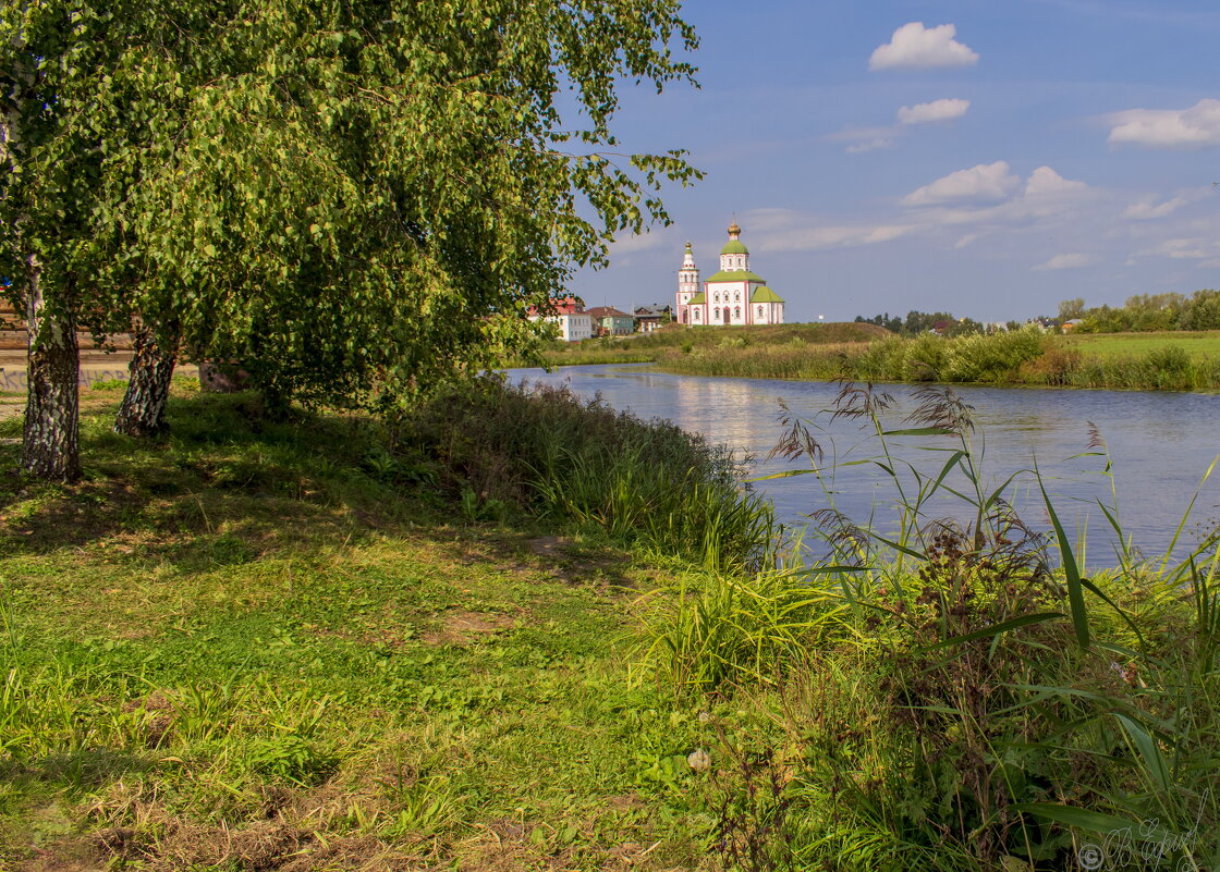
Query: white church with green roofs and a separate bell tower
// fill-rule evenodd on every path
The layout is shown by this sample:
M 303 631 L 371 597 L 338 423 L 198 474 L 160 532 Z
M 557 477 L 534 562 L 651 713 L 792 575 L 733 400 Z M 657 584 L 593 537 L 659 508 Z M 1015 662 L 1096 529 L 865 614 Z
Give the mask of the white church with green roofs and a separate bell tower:
M 680 324 L 782 324 L 783 298 L 766 287 L 761 276 L 750 272 L 750 252 L 742 243 L 742 228 L 728 227 L 728 241 L 720 250 L 720 271 L 699 287 L 699 268 L 687 243 L 678 270 Z

